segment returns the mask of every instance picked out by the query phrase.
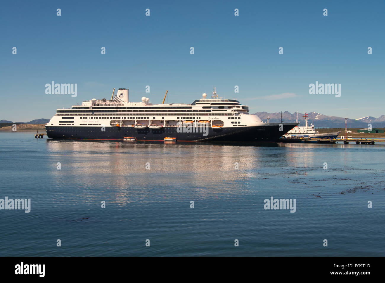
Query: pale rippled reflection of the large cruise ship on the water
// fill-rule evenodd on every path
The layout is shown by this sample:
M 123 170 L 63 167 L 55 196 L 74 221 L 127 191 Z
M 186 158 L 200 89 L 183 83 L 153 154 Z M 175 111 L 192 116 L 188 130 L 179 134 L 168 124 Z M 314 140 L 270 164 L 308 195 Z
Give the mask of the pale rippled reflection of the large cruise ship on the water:
M 189 198 L 247 193 L 241 188 L 243 180 L 253 177 L 264 158 L 260 147 L 210 143 L 47 140 L 47 149 L 51 156 L 65 153 L 63 169 L 51 172 L 55 181 L 64 182 L 70 175 L 75 184 L 87 188 L 96 182 L 106 193 L 114 192 L 111 201 L 119 205 L 157 197 L 180 199 L 181 191 Z M 286 154 L 269 156 L 278 161 Z

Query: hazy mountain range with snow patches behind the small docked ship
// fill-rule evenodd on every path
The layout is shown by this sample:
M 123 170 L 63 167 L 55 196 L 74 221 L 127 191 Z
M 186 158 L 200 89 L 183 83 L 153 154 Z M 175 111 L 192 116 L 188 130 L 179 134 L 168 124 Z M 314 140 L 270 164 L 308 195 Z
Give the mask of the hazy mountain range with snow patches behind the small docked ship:
M 259 118 L 263 120 L 263 122 L 267 121 L 269 117 L 269 122 L 277 123 L 281 122 L 281 112 L 276 113 L 267 113 L 267 112 L 257 112 L 254 113 Z M 305 118 L 303 118 L 305 114 L 298 112 L 298 122 L 300 125 L 305 125 Z M 317 112 L 308 113 L 309 120 L 308 123 L 313 123 L 316 128 L 345 128 L 345 118 L 337 117 L 337 116 L 328 116 L 323 115 Z M 283 122 L 295 122 L 297 118 L 297 113 L 291 114 L 288 111 L 282 112 L 282 121 Z M 313 122 L 314 121 L 314 122 Z M 385 115 L 381 115 L 378 118 L 367 116 L 358 119 L 349 119 L 347 120 L 348 128 L 367 128 L 368 124 L 372 124 L 373 128 L 384 128 L 385 127 Z

